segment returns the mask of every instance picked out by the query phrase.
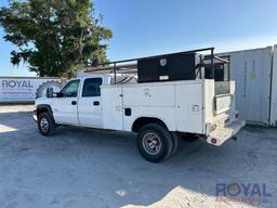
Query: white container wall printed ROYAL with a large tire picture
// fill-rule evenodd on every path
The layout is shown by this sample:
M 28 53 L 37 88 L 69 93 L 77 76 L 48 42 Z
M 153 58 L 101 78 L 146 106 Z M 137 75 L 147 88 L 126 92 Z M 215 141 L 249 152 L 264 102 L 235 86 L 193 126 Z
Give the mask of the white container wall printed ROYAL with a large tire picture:
M 48 87 L 58 90 L 60 78 L 0 77 L 0 103 L 32 103 Z

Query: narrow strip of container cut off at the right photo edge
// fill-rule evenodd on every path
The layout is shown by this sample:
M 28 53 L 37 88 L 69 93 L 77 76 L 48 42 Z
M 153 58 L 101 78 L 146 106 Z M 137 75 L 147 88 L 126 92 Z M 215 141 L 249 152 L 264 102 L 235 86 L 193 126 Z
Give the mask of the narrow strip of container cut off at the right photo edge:
M 271 125 L 277 127 L 277 44 L 273 56 Z

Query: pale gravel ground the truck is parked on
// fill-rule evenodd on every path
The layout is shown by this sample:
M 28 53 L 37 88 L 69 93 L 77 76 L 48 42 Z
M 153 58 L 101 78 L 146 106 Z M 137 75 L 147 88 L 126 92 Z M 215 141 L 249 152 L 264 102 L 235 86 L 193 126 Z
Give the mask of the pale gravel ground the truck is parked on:
M 150 164 L 130 133 L 60 128 L 43 138 L 31 109 L 0 106 L 1 208 L 277 205 L 276 129 L 247 127 L 221 147 L 182 141 L 174 157 Z M 217 183 L 238 183 L 233 194 L 249 184 L 249 192 L 216 198 Z

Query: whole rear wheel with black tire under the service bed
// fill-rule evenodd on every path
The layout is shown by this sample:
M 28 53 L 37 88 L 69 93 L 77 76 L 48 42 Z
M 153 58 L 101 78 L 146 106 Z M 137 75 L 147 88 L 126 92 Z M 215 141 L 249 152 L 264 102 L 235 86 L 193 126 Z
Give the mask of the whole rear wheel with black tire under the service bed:
M 149 142 L 149 140 L 154 141 Z M 159 162 L 171 156 L 173 139 L 166 128 L 157 123 L 148 123 L 142 127 L 137 133 L 137 148 L 146 160 Z

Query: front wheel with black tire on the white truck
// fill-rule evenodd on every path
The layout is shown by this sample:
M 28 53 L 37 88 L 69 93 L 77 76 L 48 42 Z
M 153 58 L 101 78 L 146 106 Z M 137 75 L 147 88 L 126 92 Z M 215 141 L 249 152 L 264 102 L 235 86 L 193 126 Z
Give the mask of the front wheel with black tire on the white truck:
M 38 116 L 38 128 L 42 135 L 52 135 L 56 130 L 53 117 L 49 113 L 41 113 Z

